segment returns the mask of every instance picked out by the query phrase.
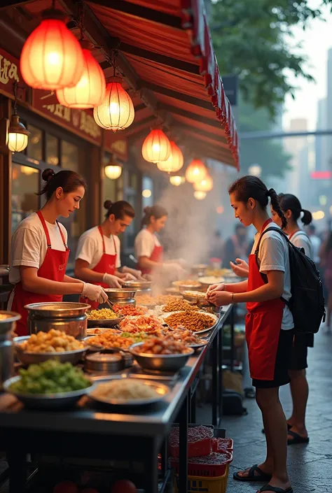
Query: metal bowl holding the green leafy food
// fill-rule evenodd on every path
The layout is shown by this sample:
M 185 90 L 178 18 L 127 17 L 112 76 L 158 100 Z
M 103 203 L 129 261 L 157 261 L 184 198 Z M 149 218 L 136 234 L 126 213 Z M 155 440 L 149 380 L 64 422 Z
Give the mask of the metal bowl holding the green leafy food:
M 22 377 L 16 376 L 8 378 L 4 383 L 4 390 L 8 394 L 14 395 L 19 401 L 21 401 L 28 408 L 43 408 L 43 409 L 57 409 L 73 406 L 81 397 L 90 392 L 95 383 L 91 382 L 90 387 L 81 390 L 72 390 L 71 392 L 59 392 L 57 394 L 20 394 L 11 390 L 11 385 L 20 381 Z

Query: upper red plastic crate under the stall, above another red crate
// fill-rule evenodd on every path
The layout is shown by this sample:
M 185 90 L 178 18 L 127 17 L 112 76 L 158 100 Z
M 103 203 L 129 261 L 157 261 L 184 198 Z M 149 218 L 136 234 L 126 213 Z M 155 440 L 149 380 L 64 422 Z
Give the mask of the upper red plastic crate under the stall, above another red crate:
M 188 457 L 200 457 L 212 452 L 213 426 L 188 427 Z M 179 427 L 170 431 L 168 449 L 171 457 L 179 457 Z

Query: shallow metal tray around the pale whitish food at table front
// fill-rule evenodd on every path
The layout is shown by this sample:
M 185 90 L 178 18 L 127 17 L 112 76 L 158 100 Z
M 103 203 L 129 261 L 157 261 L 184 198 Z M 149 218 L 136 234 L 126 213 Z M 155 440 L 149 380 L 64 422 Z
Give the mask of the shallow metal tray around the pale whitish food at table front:
M 123 377 L 123 376 L 120 376 L 120 375 L 115 375 L 115 376 L 111 376 L 111 377 L 105 377 L 105 378 L 98 378 L 97 380 L 97 385 L 99 383 L 107 383 L 107 382 L 110 382 L 111 380 L 119 380 L 119 379 L 127 379 L 127 378 L 130 378 L 130 377 Z M 135 380 L 135 378 L 130 378 L 130 380 Z M 136 380 L 137 381 L 137 380 Z M 151 404 L 155 404 L 159 401 L 161 401 L 162 399 L 165 398 L 165 396 L 167 396 L 167 394 L 170 393 L 170 387 L 168 387 L 167 385 L 163 384 L 163 383 L 158 383 L 158 382 L 155 382 L 155 381 L 151 381 L 151 380 L 145 380 L 145 379 L 140 379 L 139 381 L 143 381 L 145 383 L 145 385 L 149 385 L 150 387 L 152 387 L 156 392 L 157 392 L 157 395 L 154 397 L 154 398 L 150 398 L 150 399 L 133 399 L 131 401 L 123 401 L 122 399 L 103 399 L 101 396 L 97 396 L 95 394 L 95 390 L 97 390 L 97 385 L 95 385 L 95 387 L 91 390 L 91 392 L 88 392 L 88 395 L 90 397 L 90 399 L 92 399 L 93 401 L 96 401 L 98 403 L 102 403 L 102 404 L 106 404 L 108 406 L 120 406 L 120 407 L 139 407 L 139 406 L 150 406 Z

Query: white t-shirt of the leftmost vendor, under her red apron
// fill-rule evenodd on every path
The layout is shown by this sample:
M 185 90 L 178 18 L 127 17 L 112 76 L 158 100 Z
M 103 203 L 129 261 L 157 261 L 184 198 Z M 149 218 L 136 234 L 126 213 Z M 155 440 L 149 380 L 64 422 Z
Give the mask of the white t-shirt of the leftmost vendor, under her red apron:
M 64 242 L 57 224 L 46 221 L 50 244 L 53 250 L 64 251 Z M 67 231 L 63 224 L 59 223 L 67 243 Z M 26 217 L 18 225 L 11 239 L 11 268 L 9 271 L 9 282 L 17 284 L 20 282 L 19 266 L 36 267 L 39 269 L 46 256 L 47 241 L 43 225 L 36 213 Z

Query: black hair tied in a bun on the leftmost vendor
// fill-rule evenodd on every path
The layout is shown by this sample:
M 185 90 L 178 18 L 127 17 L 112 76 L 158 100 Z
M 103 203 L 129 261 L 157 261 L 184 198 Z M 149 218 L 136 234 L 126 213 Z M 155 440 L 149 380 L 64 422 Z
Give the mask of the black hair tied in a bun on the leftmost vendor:
M 78 175 L 75 171 L 69 171 L 69 169 L 63 169 L 58 173 L 55 173 L 53 169 L 44 169 L 41 173 L 41 178 L 46 181 L 40 192 L 36 195 L 46 194 L 46 199 L 50 200 L 57 188 L 61 187 L 65 194 L 74 192 L 78 187 L 83 187 L 86 190 L 86 183 L 81 175 Z

